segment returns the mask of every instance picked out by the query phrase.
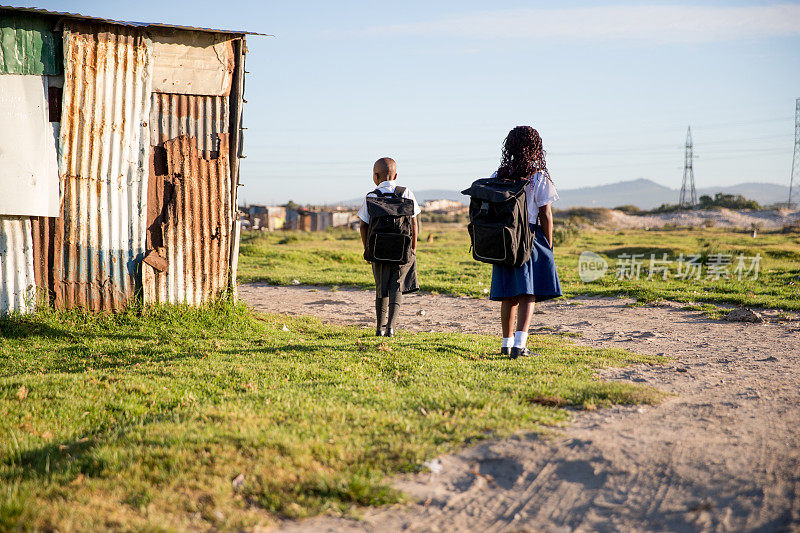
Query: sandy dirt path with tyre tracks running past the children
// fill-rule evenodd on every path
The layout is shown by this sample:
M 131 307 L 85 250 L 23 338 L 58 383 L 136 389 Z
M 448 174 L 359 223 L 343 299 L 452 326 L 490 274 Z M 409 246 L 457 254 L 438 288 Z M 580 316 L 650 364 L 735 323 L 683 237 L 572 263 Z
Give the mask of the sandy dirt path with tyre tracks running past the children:
M 372 327 L 373 293 L 240 287 L 256 309 Z M 576 412 L 551 437 L 518 435 L 398 478 L 419 503 L 322 516 L 286 531 L 800 531 L 800 322 L 710 321 L 679 305 L 545 303 L 532 331 L 674 359 L 602 372 L 676 396 L 657 407 Z M 425 311 L 424 316 L 418 315 Z M 487 300 L 412 295 L 404 329 L 498 333 Z

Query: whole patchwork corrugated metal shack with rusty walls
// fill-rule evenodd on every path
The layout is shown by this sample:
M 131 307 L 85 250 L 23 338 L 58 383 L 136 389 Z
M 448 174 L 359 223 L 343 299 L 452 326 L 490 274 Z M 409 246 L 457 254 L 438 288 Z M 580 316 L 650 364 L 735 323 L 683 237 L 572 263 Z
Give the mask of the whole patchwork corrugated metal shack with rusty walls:
M 235 289 L 247 33 L 0 6 L 0 313 Z

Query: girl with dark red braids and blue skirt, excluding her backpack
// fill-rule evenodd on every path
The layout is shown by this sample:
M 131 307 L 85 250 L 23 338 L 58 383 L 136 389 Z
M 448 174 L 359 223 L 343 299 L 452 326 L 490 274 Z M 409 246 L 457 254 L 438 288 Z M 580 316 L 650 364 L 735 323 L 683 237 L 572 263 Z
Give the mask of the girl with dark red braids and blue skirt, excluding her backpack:
M 561 296 L 561 283 L 553 259 L 553 212 L 550 208 L 558 200 L 558 193 L 547 171 L 539 132 L 530 126 L 511 130 L 503 143 L 500 167 L 492 177 L 526 182 L 528 222 L 535 235 L 535 252 L 527 263 L 516 268 L 492 266 L 489 298 L 501 302 L 503 344 L 500 352 L 516 359 L 530 355 L 526 344 L 535 302 Z

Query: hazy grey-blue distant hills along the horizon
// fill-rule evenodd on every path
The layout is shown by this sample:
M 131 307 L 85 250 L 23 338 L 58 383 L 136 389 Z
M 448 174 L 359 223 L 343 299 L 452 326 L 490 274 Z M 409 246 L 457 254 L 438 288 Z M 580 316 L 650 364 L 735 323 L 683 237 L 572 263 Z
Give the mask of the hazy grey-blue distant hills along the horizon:
M 785 202 L 789 196 L 789 187 L 776 183 L 739 183 L 724 187 L 705 187 L 697 189 L 698 198 L 703 194 L 714 196 L 718 192 L 726 194 L 741 194 L 745 198 L 755 200 L 762 205 Z M 800 192 L 800 191 L 798 191 Z M 443 189 L 427 189 L 414 191 L 417 200 L 455 200 L 467 203 L 467 197 L 459 191 Z M 621 205 L 635 205 L 640 209 L 652 209 L 661 204 L 678 203 L 679 189 L 664 187 L 658 183 L 640 178 L 631 181 L 618 181 L 594 187 L 580 189 L 560 189 L 560 200 L 556 204 L 558 209 L 570 207 L 618 207 Z M 362 198 L 347 200 L 340 205 L 361 205 Z

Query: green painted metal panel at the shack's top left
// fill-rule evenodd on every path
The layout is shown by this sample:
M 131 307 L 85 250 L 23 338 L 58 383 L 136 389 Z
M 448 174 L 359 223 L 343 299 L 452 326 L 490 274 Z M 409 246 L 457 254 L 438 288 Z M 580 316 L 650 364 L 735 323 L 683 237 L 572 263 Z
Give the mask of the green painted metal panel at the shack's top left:
M 0 11 L 0 74 L 63 73 L 61 34 L 53 24 L 50 17 Z

